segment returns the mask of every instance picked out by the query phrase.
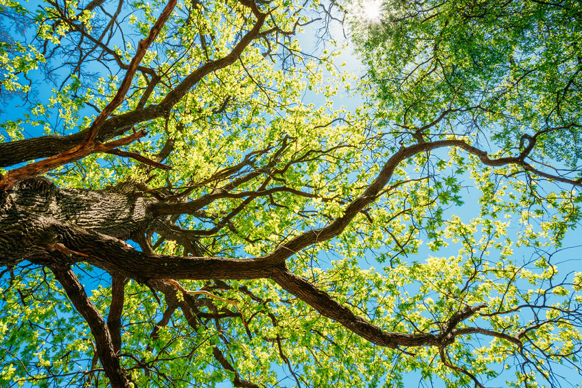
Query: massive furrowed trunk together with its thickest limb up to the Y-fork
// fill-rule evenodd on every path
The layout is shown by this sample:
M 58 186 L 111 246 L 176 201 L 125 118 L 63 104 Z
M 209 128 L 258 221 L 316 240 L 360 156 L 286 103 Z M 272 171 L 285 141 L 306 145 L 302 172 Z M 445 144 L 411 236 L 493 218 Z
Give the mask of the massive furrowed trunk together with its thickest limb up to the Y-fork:
M 88 262 L 138 282 L 149 279 L 258 279 L 284 263 L 263 258 L 155 255 L 123 241 L 150 228 L 157 200 L 135 183 L 106 190 L 59 189 L 28 179 L 0 197 L 0 266 Z

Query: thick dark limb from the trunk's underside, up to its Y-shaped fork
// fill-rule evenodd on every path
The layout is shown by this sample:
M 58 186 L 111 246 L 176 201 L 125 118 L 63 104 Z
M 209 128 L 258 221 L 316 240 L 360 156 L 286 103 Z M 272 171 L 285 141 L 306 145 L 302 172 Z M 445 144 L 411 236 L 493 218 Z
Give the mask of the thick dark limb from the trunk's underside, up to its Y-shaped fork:
M 49 247 L 59 243 L 67 248 L 70 262 L 88 262 L 139 282 L 172 278 L 259 279 L 269 277 L 273 269 L 262 258 L 194 258 L 144 253 L 117 238 L 44 216 L 0 218 L 0 227 L 5 227 L 6 236 L 0 239 L 0 265 L 14 260 L 47 264 L 53 261 L 54 248 Z M 12 235 L 30 238 L 17 241 L 10 238 Z

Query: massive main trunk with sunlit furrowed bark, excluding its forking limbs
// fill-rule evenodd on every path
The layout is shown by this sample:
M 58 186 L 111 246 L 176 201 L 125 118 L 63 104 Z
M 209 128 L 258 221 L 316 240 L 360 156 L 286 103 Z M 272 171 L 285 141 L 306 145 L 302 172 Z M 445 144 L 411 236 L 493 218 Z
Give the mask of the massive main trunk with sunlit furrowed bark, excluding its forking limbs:
M 119 244 L 148 228 L 153 220 L 149 208 L 156 201 L 131 182 L 105 190 L 59 189 L 42 177 L 27 179 L 1 195 L 0 266 L 21 260 L 51 262 L 54 251 L 76 251 L 79 243 L 67 242 L 82 240 L 83 234 L 102 235 Z M 85 233 L 73 236 L 75 231 Z

